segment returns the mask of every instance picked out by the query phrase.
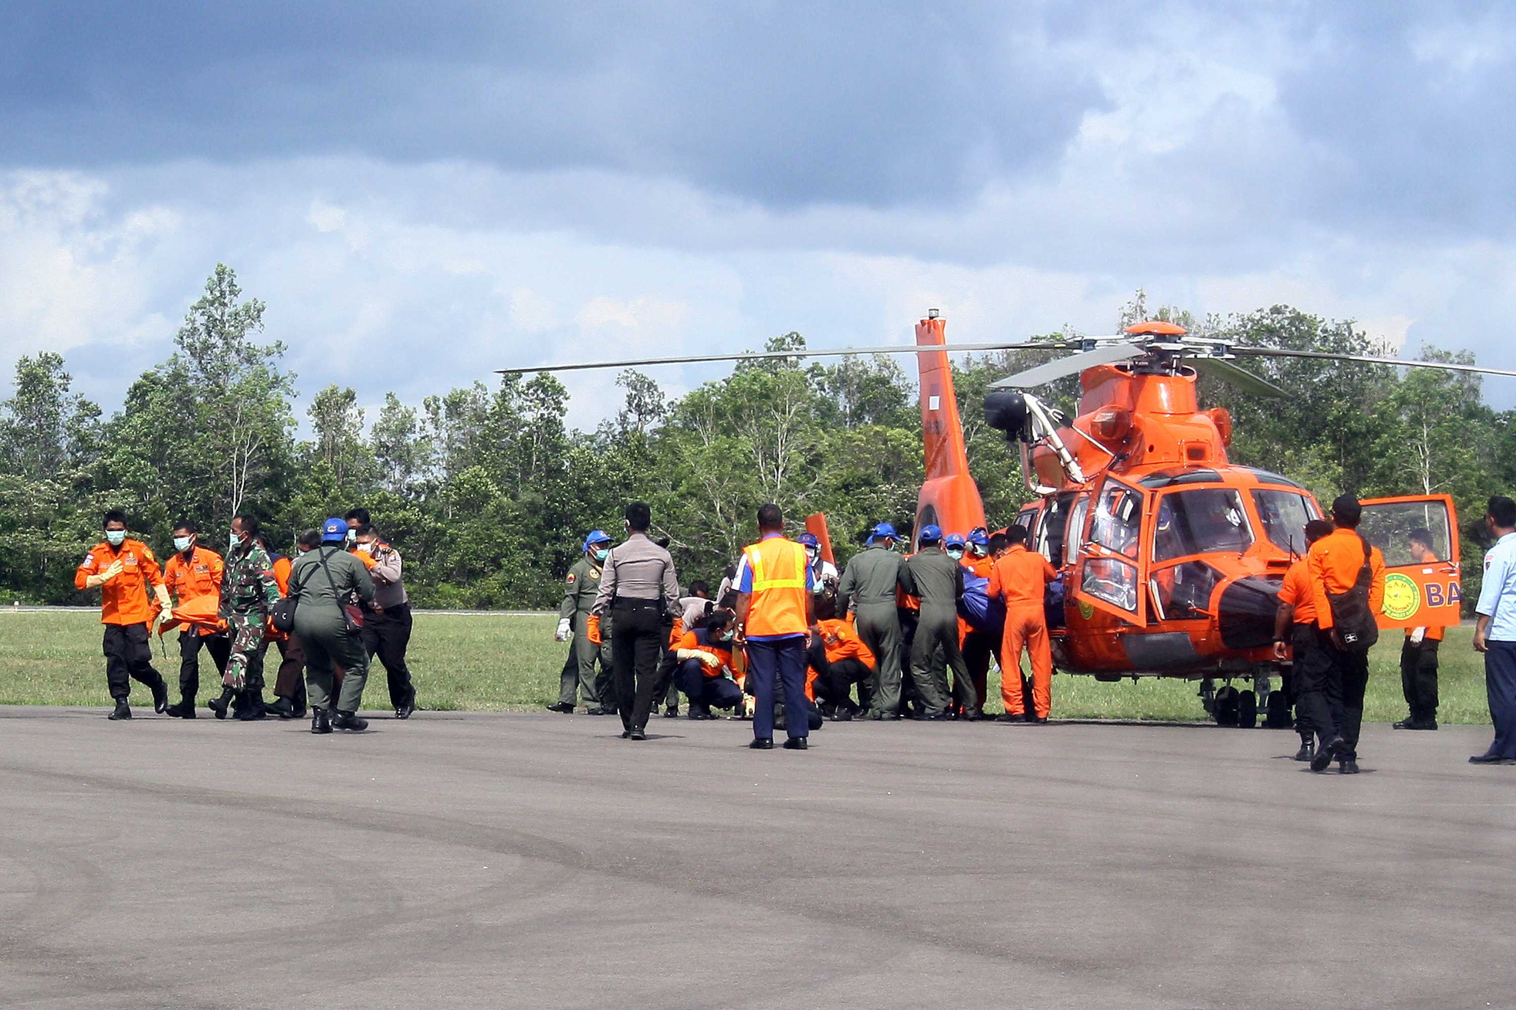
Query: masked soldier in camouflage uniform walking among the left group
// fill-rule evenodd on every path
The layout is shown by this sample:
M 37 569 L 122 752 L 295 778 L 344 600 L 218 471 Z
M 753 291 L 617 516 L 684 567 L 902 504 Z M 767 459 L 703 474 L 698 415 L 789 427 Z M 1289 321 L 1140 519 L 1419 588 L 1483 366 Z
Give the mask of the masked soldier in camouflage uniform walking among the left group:
M 258 542 L 258 519 L 240 515 L 232 519 L 232 550 L 221 572 L 221 618 L 232 639 L 232 656 L 221 677 L 221 697 L 211 701 L 217 719 L 226 718 L 233 698 L 238 719 L 264 718 L 264 650 L 268 639 L 268 610 L 279 603 L 273 559 Z

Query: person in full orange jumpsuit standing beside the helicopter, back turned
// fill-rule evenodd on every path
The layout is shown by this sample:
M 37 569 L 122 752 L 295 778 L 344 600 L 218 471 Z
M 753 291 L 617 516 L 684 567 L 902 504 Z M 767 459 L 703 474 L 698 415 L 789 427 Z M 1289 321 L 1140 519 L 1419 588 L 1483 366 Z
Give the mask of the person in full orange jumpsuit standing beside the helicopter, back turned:
M 1005 603 L 1005 637 L 1001 641 L 1001 722 L 1048 722 L 1052 712 L 1052 642 L 1043 594 L 1058 569 L 1035 551 L 1026 550 L 1026 528 L 1005 530 L 1005 554 L 990 572 L 990 598 Z M 1022 648 L 1031 653 L 1032 713 L 1028 718 L 1022 695 Z

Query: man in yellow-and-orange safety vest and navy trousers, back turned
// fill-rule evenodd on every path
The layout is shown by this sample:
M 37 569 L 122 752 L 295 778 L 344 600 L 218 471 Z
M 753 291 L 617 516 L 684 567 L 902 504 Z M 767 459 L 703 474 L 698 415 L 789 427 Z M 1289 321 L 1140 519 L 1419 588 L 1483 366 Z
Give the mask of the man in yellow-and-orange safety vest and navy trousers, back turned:
M 816 613 L 816 578 L 805 548 L 784 536 L 779 506 L 758 509 L 758 542 L 737 565 L 737 642 L 747 647 L 753 681 L 753 750 L 773 748 L 773 681 L 784 683 L 784 745 L 803 751 L 811 731 L 805 650 Z

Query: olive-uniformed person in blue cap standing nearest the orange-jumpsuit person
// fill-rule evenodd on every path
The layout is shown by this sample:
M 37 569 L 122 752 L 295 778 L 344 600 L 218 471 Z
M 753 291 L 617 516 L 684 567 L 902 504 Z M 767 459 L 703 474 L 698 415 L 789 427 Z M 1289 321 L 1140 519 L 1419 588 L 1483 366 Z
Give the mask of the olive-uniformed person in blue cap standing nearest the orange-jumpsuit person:
M 922 528 L 920 548 L 901 565 L 901 589 L 922 601 L 922 616 L 911 642 L 911 680 L 922 700 L 917 719 L 946 719 L 948 668 L 952 668 L 958 703 L 973 712 L 969 666 L 958 648 L 958 601 L 963 600 L 963 565 L 943 551 L 941 527 Z M 937 660 L 941 651 L 946 663 Z

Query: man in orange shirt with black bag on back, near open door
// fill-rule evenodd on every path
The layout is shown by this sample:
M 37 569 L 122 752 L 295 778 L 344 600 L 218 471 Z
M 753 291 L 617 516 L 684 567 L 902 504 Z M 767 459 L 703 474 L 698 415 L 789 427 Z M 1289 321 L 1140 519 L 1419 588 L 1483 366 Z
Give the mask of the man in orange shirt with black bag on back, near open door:
M 1355 497 L 1337 495 L 1331 503 L 1336 528 L 1316 541 L 1305 554 L 1316 624 L 1328 659 L 1320 677 L 1301 684 L 1301 704 L 1320 737 L 1316 757 L 1311 759 L 1311 771 L 1317 772 L 1326 771 L 1333 760 L 1343 775 L 1358 772 L 1358 728 L 1363 722 L 1363 692 L 1369 686 L 1369 653 L 1366 645 L 1345 637 L 1333 604 L 1345 606 L 1351 600 L 1349 591 L 1360 586 L 1367 566 L 1369 616 L 1378 615 L 1384 607 L 1384 556 L 1358 535 L 1361 516 L 1363 507 Z M 1373 634 L 1378 636 L 1378 631 Z

